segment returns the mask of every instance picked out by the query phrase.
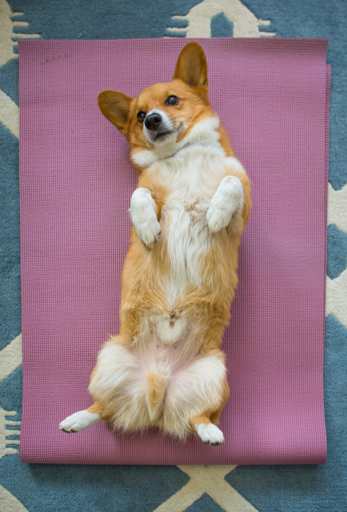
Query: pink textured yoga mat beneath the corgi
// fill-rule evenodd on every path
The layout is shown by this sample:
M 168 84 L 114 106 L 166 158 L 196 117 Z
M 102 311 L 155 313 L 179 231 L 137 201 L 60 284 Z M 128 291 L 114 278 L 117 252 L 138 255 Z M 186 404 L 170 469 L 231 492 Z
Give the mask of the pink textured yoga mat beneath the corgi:
M 223 349 L 226 443 L 58 429 L 89 407 L 96 355 L 119 329 L 136 173 L 96 95 L 171 79 L 186 40 L 19 42 L 22 461 L 325 461 L 323 410 L 329 68 L 324 40 L 201 40 L 210 99 L 253 187 Z M 139 268 L 139 271 L 141 269 Z

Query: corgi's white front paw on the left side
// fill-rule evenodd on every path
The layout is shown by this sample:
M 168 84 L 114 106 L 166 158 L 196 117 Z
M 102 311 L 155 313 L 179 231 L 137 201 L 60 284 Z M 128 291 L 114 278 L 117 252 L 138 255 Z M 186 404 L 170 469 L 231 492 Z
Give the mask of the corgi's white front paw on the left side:
M 160 234 L 157 207 L 151 192 L 143 187 L 133 191 L 129 211 L 137 236 L 147 247 L 151 247 Z

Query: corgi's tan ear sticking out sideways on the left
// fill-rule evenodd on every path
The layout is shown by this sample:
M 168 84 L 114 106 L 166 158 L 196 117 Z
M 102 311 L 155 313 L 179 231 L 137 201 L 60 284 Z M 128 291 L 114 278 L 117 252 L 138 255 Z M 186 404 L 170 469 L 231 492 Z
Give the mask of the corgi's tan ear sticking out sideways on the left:
M 133 98 L 126 96 L 123 92 L 107 89 L 98 94 L 98 105 L 103 115 L 117 126 L 118 130 L 125 135 L 124 130 L 128 123 L 130 105 Z

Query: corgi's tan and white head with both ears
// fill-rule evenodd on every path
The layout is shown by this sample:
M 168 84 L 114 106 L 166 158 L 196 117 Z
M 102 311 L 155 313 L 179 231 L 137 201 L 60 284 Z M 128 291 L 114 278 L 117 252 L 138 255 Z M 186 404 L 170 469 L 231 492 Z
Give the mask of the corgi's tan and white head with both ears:
M 189 42 L 178 56 L 172 82 L 146 87 L 137 98 L 105 90 L 98 103 L 128 140 L 133 156 L 146 150 L 170 155 L 211 112 L 205 53 L 198 43 Z

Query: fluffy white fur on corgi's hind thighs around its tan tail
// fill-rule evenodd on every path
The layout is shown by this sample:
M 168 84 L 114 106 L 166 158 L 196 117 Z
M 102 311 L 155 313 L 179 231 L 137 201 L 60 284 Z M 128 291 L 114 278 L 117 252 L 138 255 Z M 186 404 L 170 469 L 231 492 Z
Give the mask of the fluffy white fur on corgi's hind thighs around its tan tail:
M 217 411 L 221 406 L 226 378 L 223 355 L 201 355 L 182 366 L 178 349 L 171 349 L 171 359 L 164 343 L 158 352 L 155 350 L 154 345 L 150 352 L 137 353 L 112 341 L 106 343 L 99 352 L 90 393 L 94 402 L 108 403 L 111 423 L 117 428 L 146 430 L 155 425 L 168 434 L 185 438 L 191 432 L 189 418 L 200 416 L 208 408 Z M 147 400 L 147 376 L 151 373 L 167 380 L 162 416 L 155 421 Z

